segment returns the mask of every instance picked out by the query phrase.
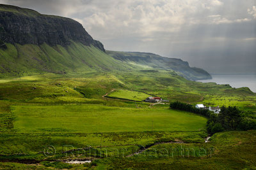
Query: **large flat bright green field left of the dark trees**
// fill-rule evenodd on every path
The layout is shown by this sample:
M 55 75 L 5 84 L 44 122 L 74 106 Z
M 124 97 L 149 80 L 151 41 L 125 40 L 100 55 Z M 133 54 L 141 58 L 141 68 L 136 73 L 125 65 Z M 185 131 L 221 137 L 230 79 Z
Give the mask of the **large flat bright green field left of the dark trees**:
M 200 131 L 206 124 L 206 118 L 169 109 L 86 104 L 13 106 L 12 111 L 17 132 Z

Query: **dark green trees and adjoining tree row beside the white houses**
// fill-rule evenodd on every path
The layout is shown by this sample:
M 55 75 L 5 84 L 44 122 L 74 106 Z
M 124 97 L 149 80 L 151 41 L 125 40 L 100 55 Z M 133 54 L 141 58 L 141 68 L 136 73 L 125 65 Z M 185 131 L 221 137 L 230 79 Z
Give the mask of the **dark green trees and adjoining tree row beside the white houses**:
M 187 103 L 179 101 L 170 103 L 170 108 L 189 111 L 208 118 L 207 131 L 211 134 L 221 131 L 256 129 L 256 115 L 252 112 L 242 112 L 236 106 L 221 107 L 219 114 L 212 113 L 207 109 L 198 109 Z

